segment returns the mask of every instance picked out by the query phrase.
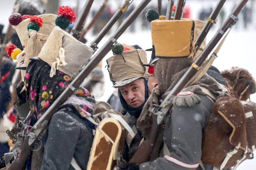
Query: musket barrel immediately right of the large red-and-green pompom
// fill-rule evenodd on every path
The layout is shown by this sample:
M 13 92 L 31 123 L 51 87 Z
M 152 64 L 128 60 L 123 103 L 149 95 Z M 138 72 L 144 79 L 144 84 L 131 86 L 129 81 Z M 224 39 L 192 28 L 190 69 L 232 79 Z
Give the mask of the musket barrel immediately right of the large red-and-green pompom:
M 81 31 L 83 29 L 83 25 L 85 22 L 85 19 L 91 9 L 91 5 L 93 3 L 94 0 L 87 0 L 82 8 L 82 12 L 80 12 L 78 18 L 76 19 L 74 26 L 70 32 L 70 34 L 75 37 L 77 40 L 80 38 L 81 36 Z

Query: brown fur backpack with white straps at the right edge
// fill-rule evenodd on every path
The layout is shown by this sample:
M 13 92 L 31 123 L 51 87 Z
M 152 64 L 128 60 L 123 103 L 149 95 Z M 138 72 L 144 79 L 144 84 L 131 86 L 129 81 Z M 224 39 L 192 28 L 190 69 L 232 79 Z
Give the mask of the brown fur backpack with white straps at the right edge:
M 221 72 L 230 96 L 213 105 L 202 140 L 201 160 L 217 168 L 236 169 L 253 158 L 256 146 L 256 103 L 246 102 L 255 93 L 255 81 L 242 68 Z

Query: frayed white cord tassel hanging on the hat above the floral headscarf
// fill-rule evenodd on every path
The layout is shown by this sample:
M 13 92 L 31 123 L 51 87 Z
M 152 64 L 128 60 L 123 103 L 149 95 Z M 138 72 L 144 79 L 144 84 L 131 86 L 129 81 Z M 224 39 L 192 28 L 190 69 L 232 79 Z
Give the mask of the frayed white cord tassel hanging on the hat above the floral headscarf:
M 56 73 L 56 69 L 59 69 L 59 66 L 67 65 L 65 61 L 65 49 L 60 47 L 59 51 L 59 58 L 56 58 L 55 61 L 52 63 L 50 77 L 53 77 Z

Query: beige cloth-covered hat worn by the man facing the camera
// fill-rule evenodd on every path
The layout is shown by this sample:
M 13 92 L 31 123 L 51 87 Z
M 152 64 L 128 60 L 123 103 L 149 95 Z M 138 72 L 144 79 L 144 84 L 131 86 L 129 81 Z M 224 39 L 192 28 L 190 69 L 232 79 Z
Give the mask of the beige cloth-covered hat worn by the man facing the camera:
M 109 74 L 112 77 L 112 80 L 115 81 L 115 83 L 112 82 L 113 87 L 128 84 L 138 78 L 143 77 L 144 74 L 148 72 L 148 67 L 143 66 L 143 64 L 147 63 L 147 55 L 145 50 L 126 50 L 122 53 L 122 55 L 117 54 L 107 59 L 107 63 L 109 65 Z

